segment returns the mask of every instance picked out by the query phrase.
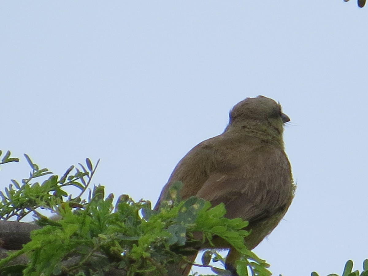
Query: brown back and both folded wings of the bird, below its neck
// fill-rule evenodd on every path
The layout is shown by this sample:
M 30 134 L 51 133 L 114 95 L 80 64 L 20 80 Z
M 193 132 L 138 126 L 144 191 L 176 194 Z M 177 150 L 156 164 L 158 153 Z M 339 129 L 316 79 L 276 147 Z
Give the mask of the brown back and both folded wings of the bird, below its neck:
M 188 152 L 162 189 L 155 209 L 176 181 L 183 182 L 182 199 L 195 195 L 212 206 L 223 202 L 230 219 L 261 220 L 290 204 L 291 169 L 283 149 L 253 138 L 231 148 L 229 144 L 218 136 Z

